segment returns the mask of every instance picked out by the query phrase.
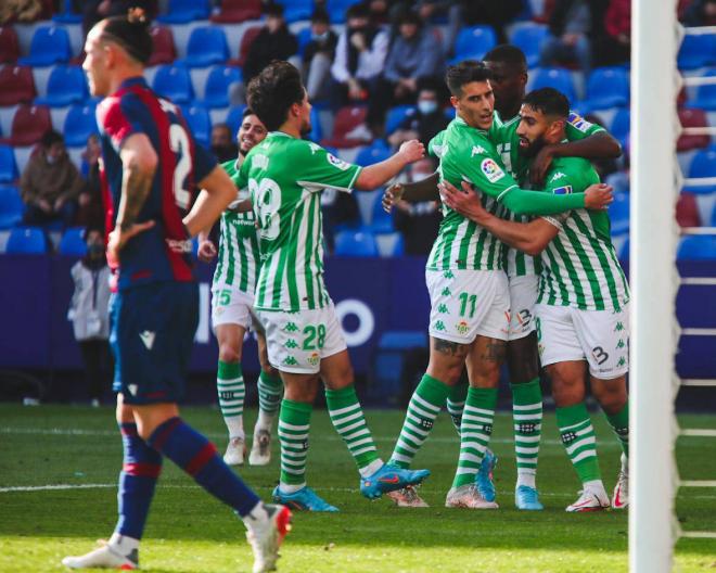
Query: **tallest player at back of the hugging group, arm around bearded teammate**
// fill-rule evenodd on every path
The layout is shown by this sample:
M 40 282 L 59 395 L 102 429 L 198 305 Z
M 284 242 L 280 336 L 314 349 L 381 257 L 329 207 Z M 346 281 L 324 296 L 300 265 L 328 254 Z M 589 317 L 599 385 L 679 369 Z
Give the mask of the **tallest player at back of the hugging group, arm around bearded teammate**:
M 520 138 L 516 129 L 520 124 L 520 106 L 525 97 L 527 64 L 525 55 L 515 46 L 501 44 L 485 55 L 485 65 L 490 71 L 490 86 L 495 92 L 495 123 L 489 131 L 490 140 L 504 167 L 520 184 L 527 184 L 532 176 L 535 182 L 544 179 L 545 169 L 553 156 L 579 156 L 586 158 L 613 157 L 621 154 L 618 142 L 603 128 L 592 125 L 575 113 L 570 113 L 566 125 L 568 141 L 545 145 L 536 157 L 525 157 L 519 153 Z M 440 137 L 436 138 L 439 144 Z M 437 177 L 433 178 L 435 195 Z M 418 186 L 427 184 L 419 182 Z M 404 199 L 414 190 L 406 186 Z M 425 189 L 430 192 L 430 188 Z M 524 216 L 515 216 L 509 211 L 511 220 L 526 221 Z M 536 484 L 537 459 L 542 422 L 542 396 L 539 385 L 539 357 L 535 333 L 534 305 L 537 300 L 539 257 L 530 257 L 506 245 L 503 267 L 510 288 L 510 328 L 508 332 L 507 364 L 512 391 L 512 413 L 514 447 L 517 466 L 515 483 L 515 506 L 517 509 L 540 510 L 542 505 Z M 447 398 L 447 409 L 458 431 L 466 395 L 463 384 L 457 385 Z M 487 451 L 478 472 L 478 489 L 488 500 L 494 499 L 495 488 L 489 473 L 497 458 Z

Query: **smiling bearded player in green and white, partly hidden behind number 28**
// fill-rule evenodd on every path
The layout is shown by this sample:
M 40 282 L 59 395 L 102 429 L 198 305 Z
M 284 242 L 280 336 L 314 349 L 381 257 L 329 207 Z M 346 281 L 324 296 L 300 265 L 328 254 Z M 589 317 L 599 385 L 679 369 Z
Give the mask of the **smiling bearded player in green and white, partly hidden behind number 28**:
M 239 168 L 246 154 L 266 138 L 266 126 L 251 109 L 243 113 L 236 140 L 239 156 L 221 164 L 221 168 L 236 182 Z M 252 466 L 266 466 L 271 460 L 271 425 L 281 404 L 283 385 L 279 372 L 271 367 L 266 353 L 266 336 L 258 320 L 254 320 L 254 292 L 258 277 L 259 253 L 255 218 L 252 212 L 236 213 L 240 200 L 247 199 L 248 190 L 240 191 L 227 211 L 221 214 L 218 264 L 212 285 L 212 323 L 219 342 L 219 365 L 216 390 L 223 421 L 229 430 L 229 445 L 223 461 L 242 466 L 246 445 L 243 411 L 246 389 L 241 369 L 244 335 L 252 328 L 258 342 L 261 373 L 258 379 L 258 420 L 254 426 L 254 441 L 248 456 Z M 216 246 L 202 231 L 199 258 L 205 263 L 217 256 Z

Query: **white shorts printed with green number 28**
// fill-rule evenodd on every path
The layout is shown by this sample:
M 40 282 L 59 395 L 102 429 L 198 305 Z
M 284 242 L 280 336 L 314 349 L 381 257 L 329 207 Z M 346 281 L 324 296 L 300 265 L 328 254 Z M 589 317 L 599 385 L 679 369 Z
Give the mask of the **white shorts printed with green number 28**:
M 333 303 L 316 310 L 257 315 L 266 330 L 269 362 L 282 372 L 315 374 L 323 358 L 347 348 Z

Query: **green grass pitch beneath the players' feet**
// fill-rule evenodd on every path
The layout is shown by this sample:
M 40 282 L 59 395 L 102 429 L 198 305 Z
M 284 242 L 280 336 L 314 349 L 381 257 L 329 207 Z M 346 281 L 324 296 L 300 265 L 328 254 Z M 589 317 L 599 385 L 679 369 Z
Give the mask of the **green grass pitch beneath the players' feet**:
M 184 418 L 226 445 L 217 410 L 184 408 Z M 368 422 L 384 459 L 402 422 L 401 411 L 369 410 Z M 246 415 L 251 430 L 255 411 Z M 619 449 L 601 415 L 592 415 L 606 487 L 617 473 Z M 685 428 L 716 428 L 716 417 L 682 416 Z M 554 417 L 546 416 L 538 484 L 546 510 L 514 509 L 511 420 L 498 415 L 493 449 L 499 457 L 496 485 L 500 509 L 446 509 L 458 457 L 458 438 L 442 415 L 414 468 L 433 472 L 420 493 L 429 509 L 398 509 L 387 499 L 368 501 L 358 474 L 325 411 L 312 418 L 308 483 L 337 514 L 298 513 L 281 553 L 282 572 L 626 572 L 624 512 L 568 514 L 578 482 L 557 442 Z M 278 480 L 278 443 L 267 468 L 241 475 L 264 497 Z M 677 448 L 685 480 L 713 480 L 713 441 L 682 438 Z M 112 408 L 23 408 L 0 405 L 0 572 L 62 571 L 62 557 L 87 552 L 108 538 L 116 520 L 116 479 L 122 444 Z M 57 486 L 49 488 L 47 486 Z M 654 500 L 665 502 L 665 500 Z M 685 530 L 716 530 L 716 492 L 681 489 L 677 515 Z M 243 525 L 170 462 L 154 498 L 140 551 L 142 570 L 168 572 L 251 571 Z M 682 539 L 676 571 L 716 568 L 716 540 Z

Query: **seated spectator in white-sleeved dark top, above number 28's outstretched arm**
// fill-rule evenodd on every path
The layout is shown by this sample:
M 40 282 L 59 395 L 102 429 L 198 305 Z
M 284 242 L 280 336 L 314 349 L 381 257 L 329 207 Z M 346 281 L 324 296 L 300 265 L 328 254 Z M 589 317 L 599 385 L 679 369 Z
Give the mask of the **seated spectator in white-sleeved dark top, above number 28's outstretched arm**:
M 371 22 L 368 8 L 365 4 L 348 8 L 346 26 L 338 37 L 331 66 L 334 109 L 368 100 L 383 72 L 387 49 L 388 35 Z

